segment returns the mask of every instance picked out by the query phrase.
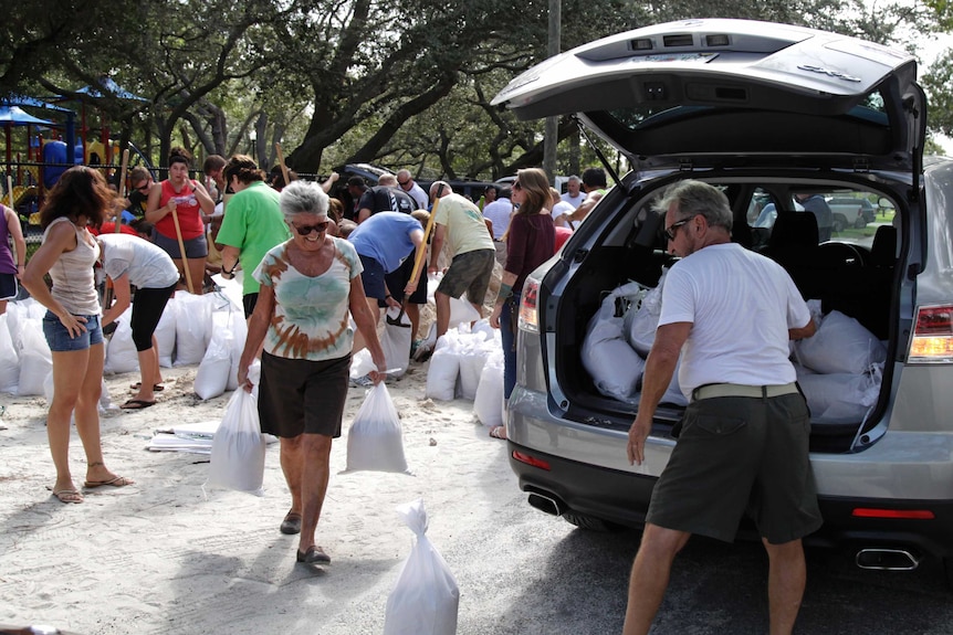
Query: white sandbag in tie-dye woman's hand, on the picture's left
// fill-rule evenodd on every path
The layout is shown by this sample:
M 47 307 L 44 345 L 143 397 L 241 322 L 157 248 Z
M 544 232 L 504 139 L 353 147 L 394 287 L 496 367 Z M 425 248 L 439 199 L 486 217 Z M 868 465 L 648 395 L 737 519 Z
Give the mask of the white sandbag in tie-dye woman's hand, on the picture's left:
M 258 382 L 251 369 L 249 379 Z M 262 494 L 265 438 L 258 417 L 258 393 L 234 391 L 212 438 L 209 477 L 205 487 Z

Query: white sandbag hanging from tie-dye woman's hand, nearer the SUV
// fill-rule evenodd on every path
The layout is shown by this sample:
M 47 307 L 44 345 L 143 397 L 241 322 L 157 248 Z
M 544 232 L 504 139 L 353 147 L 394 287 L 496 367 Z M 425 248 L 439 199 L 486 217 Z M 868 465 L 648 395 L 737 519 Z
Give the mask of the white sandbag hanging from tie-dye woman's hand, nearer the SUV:
M 347 431 L 346 472 L 407 472 L 400 416 L 384 382 L 367 391 Z

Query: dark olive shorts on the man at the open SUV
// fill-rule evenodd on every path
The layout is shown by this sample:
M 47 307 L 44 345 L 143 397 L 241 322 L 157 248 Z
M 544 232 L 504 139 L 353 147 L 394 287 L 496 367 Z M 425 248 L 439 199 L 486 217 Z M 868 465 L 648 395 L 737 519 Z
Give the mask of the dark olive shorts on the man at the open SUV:
M 731 542 L 744 514 L 773 544 L 821 525 L 800 394 L 692 402 L 656 488 L 648 522 Z

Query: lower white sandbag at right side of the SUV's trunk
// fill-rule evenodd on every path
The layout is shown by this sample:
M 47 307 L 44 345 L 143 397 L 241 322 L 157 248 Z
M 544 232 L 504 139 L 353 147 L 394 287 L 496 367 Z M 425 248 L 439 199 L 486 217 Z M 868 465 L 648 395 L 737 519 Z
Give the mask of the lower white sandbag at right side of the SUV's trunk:
M 858 423 L 880 396 L 883 364 L 875 364 L 871 372 L 798 373 L 797 382 L 804 391 L 810 420 L 818 423 Z

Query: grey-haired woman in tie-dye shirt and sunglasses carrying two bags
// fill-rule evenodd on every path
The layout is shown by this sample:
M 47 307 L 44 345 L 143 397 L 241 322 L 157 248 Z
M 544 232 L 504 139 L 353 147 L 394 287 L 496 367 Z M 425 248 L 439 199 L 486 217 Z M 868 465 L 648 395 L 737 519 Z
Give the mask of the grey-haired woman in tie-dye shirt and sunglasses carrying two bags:
M 293 181 L 281 192 L 292 239 L 269 251 L 254 272 L 258 304 L 239 364 L 239 384 L 251 390 L 248 368 L 261 349 L 261 431 L 281 438 L 281 467 L 291 489 L 283 533 L 301 533 L 297 561 L 328 564 L 314 543 L 329 478 L 331 443 L 341 436 L 354 331 L 367 341 L 384 379 L 384 351 L 360 283 L 360 260 L 345 240 L 327 235 L 328 199 L 316 183 Z

